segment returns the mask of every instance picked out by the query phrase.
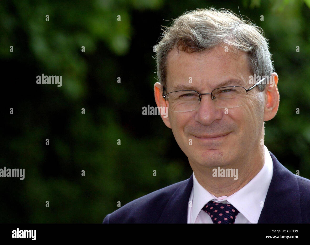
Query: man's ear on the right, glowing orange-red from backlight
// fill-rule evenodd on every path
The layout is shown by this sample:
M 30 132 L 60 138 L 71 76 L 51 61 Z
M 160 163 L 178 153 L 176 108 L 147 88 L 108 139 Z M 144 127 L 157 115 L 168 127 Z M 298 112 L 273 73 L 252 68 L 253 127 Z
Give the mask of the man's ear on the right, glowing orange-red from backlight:
M 264 121 L 269 121 L 277 114 L 280 102 L 280 95 L 278 91 L 278 75 L 277 73 L 271 74 L 269 84 L 265 88 L 265 111 Z

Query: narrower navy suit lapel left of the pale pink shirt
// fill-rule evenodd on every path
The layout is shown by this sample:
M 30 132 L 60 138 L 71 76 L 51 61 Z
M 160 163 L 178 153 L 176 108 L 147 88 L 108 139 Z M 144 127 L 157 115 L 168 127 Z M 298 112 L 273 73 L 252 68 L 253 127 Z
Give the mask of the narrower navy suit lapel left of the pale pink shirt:
M 189 196 L 193 189 L 193 174 L 184 180 L 168 201 L 158 223 L 187 224 Z

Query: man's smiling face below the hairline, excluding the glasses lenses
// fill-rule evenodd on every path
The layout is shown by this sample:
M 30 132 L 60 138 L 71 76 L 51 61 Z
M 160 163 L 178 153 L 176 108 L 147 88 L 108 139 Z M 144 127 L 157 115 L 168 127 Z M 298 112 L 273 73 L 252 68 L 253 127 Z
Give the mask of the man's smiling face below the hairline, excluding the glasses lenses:
M 191 54 L 174 49 L 168 54 L 167 63 L 167 92 L 180 90 L 176 89 L 180 85 L 199 93 L 226 86 L 253 86 L 249 84 L 249 76 L 253 74 L 244 52 L 236 56 L 220 46 Z M 230 79 L 239 80 L 240 84 L 219 86 Z M 257 86 L 247 97 L 245 105 L 226 109 L 227 114 L 225 109 L 215 106 L 211 95 L 201 95 L 199 107 L 194 111 L 168 111 L 166 125 L 171 127 L 191 165 L 236 164 L 259 148 L 263 139 L 265 97 Z

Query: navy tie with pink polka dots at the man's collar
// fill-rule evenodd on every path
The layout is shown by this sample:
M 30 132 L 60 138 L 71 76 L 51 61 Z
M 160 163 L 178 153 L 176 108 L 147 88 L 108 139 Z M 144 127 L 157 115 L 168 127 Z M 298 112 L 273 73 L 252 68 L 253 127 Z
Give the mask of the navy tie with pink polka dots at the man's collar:
M 239 211 L 231 204 L 208 202 L 203 208 L 214 224 L 234 224 Z

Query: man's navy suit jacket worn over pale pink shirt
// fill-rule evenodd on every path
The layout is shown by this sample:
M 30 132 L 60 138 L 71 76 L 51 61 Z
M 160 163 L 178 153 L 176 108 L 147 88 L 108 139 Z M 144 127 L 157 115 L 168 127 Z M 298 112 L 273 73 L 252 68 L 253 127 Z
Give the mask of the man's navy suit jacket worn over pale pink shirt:
M 291 173 L 269 151 L 273 175 L 258 223 L 310 223 L 310 180 Z M 103 223 L 187 223 L 193 175 L 127 203 Z

